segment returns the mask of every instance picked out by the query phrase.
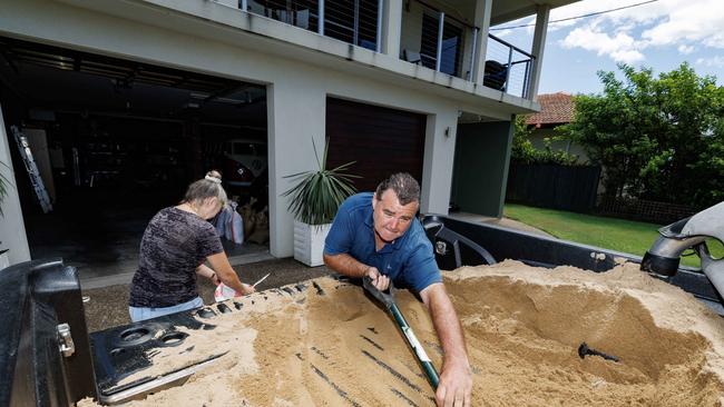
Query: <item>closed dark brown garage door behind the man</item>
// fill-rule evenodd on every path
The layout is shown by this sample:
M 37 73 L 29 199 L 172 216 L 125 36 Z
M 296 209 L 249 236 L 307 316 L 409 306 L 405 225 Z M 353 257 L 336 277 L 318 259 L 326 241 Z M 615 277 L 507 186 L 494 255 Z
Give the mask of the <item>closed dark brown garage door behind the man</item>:
M 327 168 L 356 161 L 350 172 L 362 176 L 354 186 L 372 191 L 393 172 L 422 180 L 424 115 L 326 99 Z

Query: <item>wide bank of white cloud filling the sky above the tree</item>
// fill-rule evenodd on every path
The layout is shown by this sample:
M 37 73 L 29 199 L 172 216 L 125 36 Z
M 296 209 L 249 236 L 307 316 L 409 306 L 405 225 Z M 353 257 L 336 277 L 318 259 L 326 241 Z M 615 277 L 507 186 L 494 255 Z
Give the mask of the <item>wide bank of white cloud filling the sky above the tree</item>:
M 550 20 L 616 9 L 635 2 L 585 0 L 554 9 Z M 695 51 L 692 43 L 724 49 L 724 12 L 720 11 L 722 6 L 722 0 L 659 0 L 570 20 L 566 24 L 575 23 L 576 28 L 561 41 L 561 46 L 594 51 L 598 56 L 626 63 L 644 60 L 644 50 L 649 47 L 676 47 L 683 54 Z M 550 29 L 557 24 L 551 24 Z

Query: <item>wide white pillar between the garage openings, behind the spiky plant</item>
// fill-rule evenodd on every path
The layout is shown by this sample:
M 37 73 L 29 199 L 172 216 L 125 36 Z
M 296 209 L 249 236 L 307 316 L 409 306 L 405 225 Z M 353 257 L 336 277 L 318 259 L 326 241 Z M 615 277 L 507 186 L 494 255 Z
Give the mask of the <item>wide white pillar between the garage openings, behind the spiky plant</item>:
M 323 153 L 326 95 L 322 83 L 281 79 L 266 88 L 268 122 L 270 252 L 294 255 L 294 219 L 288 198 L 282 197 L 293 181 L 285 176 L 316 169 L 312 138 Z

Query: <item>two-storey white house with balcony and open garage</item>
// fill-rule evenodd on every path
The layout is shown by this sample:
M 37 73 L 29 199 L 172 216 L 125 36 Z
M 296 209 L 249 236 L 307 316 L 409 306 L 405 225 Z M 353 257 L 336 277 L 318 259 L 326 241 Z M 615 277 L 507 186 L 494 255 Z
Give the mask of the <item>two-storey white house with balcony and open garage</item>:
M 464 211 L 500 216 L 511 119 L 540 110 L 549 13 L 573 2 L 2 1 L 0 171 L 14 187 L 0 249 L 11 264 L 78 252 L 121 261 L 121 232 L 139 238 L 189 181 L 221 168 L 256 183 L 266 250 L 292 256 L 285 176 L 313 169 L 312 139 L 326 138 L 330 166 L 356 161 L 361 190 L 409 171 L 422 212 L 447 214 L 454 197 Z M 530 49 L 489 31 L 528 16 Z M 50 214 L 11 126 L 32 135 Z M 254 168 L 227 159 L 244 155 L 261 158 Z

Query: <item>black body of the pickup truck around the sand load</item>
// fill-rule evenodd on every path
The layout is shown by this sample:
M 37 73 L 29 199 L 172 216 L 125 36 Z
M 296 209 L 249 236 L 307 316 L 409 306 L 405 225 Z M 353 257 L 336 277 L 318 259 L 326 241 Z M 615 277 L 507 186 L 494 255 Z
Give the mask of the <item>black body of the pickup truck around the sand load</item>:
M 422 222 L 442 270 L 516 259 L 536 267 L 570 265 L 605 271 L 622 259 L 636 264 L 643 260 L 630 254 L 447 216 L 425 216 Z M 677 262 L 674 271 L 662 278 L 724 314 L 722 298 L 705 274 Z M 313 286 L 299 284 L 284 289 L 293 292 Z M 0 271 L 0 407 L 72 406 L 84 398 L 112 405 L 174 386 L 219 355 L 208 355 L 206 360 L 180 371 L 126 383 L 124 378 L 148 367 L 149 360 L 143 355 L 150 347 L 175 346 L 187 335 L 166 329 L 168 334 L 151 338 L 149 324 L 199 329 L 203 325 L 194 316 L 203 318 L 203 312 L 214 312 L 212 307 L 216 312 L 235 311 L 217 304 L 150 322 L 88 332 L 76 269 L 61 259 L 6 268 Z

